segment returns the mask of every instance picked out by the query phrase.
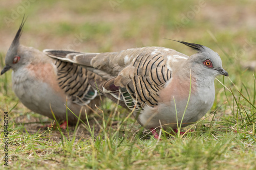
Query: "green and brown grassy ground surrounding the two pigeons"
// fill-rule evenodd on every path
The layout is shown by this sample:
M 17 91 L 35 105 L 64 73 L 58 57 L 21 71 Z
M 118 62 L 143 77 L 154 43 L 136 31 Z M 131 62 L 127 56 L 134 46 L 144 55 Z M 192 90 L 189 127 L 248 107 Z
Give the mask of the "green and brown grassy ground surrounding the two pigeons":
M 111 2 L 116 6 L 111 6 Z M 232 5 L 231 5 L 232 4 Z M 229 77 L 217 77 L 216 99 L 209 113 L 186 136 L 162 130 L 162 140 L 147 135 L 131 112 L 105 101 L 88 121 L 68 130 L 40 129 L 53 123 L 18 102 L 11 89 L 11 71 L 0 77 L 1 118 L 8 112 L 8 167 L 4 143 L 0 164 L 6 169 L 255 169 L 256 78 L 243 67 L 253 60 L 255 16 L 252 1 L 206 1 L 195 17 L 187 17 L 198 1 L 35 1 L 21 43 L 43 50 L 66 48 L 87 52 L 120 51 L 141 46 L 165 46 L 187 55 L 188 47 L 164 38 L 206 45 L 219 53 Z M 11 17 L 20 3 L 1 5 L 1 16 Z M 225 10 L 223 9 L 225 7 Z M 13 9 L 13 10 L 12 10 Z M 54 9 L 54 10 L 52 10 Z M 240 11 L 237 12 L 237 11 Z M 225 13 L 228 11 L 228 14 Z M 0 23 L 0 62 L 22 20 Z M 182 23 L 177 28 L 176 22 Z M 80 43 L 73 41 L 82 34 Z M 255 60 L 255 58 L 254 58 Z M 225 86 L 225 87 L 224 87 Z M 13 108 L 13 109 L 12 109 Z M 12 110 L 11 110 L 12 109 Z M 11 110 L 11 111 L 10 111 Z M 190 127 L 182 128 L 186 131 Z M 4 139 L 4 122 L 0 138 Z

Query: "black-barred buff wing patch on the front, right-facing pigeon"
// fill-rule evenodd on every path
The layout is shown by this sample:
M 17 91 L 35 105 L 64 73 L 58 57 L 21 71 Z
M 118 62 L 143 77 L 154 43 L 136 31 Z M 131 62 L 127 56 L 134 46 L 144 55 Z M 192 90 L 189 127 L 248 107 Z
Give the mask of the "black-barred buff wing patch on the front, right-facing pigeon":
M 171 78 L 172 72 L 166 67 L 166 61 L 161 53 L 140 55 L 133 65 L 135 74 L 127 85 L 126 90 L 136 102 L 137 108 L 143 109 L 147 106 L 157 106 L 159 102 L 159 91 L 164 88 L 165 83 Z

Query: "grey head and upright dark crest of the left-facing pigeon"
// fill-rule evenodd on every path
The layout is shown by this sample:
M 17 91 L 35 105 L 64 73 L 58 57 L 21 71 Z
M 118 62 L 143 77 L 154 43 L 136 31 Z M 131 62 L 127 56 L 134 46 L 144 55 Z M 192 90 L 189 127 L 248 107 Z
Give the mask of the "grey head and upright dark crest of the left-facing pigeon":
M 19 38 L 22 35 L 22 30 L 23 30 L 23 26 L 26 20 L 22 20 L 21 25 L 19 26 L 19 29 L 11 43 L 11 46 L 9 47 L 9 50 L 6 54 L 5 57 L 5 64 L 6 66 L 4 67 L 4 69 L 1 71 L 1 75 L 3 75 L 6 71 L 8 71 L 9 69 L 17 69 L 18 67 L 20 67 L 20 65 L 23 65 L 25 63 L 25 57 L 22 56 L 22 52 L 19 52 L 19 48 L 20 48 L 20 44 L 19 44 Z

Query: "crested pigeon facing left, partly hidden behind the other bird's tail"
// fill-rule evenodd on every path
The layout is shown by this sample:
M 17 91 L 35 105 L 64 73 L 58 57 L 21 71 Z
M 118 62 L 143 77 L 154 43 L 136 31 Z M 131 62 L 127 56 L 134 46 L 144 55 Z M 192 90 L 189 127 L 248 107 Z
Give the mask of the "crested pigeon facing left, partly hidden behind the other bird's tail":
M 1 75 L 9 69 L 13 70 L 13 91 L 30 110 L 53 118 L 52 108 L 56 119 L 66 120 L 67 103 L 69 109 L 77 116 L 81 112 L 80 118 L 86 119 L 85 109 L 87 113 L 92 112 L 90 109 L 100 103 L 97 90 L 88 82 L 95 77 L 101 78 L 77 65 L 69 69 L 72 63 L 51 59 L 33 47 L 19 44 L 24 23 L 23 19 L 6 54 L 6 66 Z M 77 117 L 70 111 L 68 121 L 71 124 L 77 122 Z

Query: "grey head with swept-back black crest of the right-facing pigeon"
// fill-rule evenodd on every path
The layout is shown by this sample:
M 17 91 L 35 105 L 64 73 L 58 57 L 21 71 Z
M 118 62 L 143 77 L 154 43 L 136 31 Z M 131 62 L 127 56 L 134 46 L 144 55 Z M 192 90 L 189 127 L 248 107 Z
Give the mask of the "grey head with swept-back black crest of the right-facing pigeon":
M 204 45 L 184 41 L 177 42 L 183 43 L 198 51 L 198 53 L 191 55 L 188 59 L 188 61 L 191 63 L 191 68 L 195 68 L 195 70 L 198 71 L 198 74 L 214 77 L 218 75 L 228 76 L 227 71 L 222 68 L 221 58 L 218 53 L 212 51 L 210 48 Z

